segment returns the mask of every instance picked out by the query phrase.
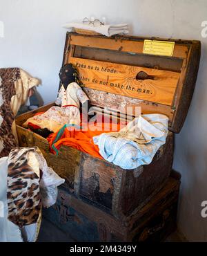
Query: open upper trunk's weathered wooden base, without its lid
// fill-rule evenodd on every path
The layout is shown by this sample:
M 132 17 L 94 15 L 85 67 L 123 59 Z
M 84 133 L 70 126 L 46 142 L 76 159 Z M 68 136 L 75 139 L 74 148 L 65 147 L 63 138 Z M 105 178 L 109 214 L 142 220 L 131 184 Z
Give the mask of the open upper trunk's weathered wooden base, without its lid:
M 58 156 L 51 154 L 48 140 L 21 127 L 34 112 L 45 111 L 48 107 L 50 105 L 17 118 L 19 145 L 39 147 L 48 165 L 66 179 L 64 187 L 71 194 L 122 218 L 141 208 L 165 185 L 172 169 L 172 132 L 150 165 L 124 170 L 71 147 L 62 146 Z

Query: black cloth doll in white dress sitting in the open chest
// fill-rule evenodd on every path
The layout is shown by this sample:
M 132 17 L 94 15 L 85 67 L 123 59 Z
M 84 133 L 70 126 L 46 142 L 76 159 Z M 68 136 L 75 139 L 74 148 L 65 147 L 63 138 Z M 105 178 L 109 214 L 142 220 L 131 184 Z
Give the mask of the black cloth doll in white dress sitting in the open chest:
M 23 126 L 28 126 L 30 129 L 33 127 L 32 130 L 35 127 L 35 132 L 39 133 L 43 129 L 44 132 L 46 129 L 50 132 L 56 132 L 66 124 L 80 125 L 80 104 L 82 104 L 82 113 L 85 115 L 88 114 L 90 103 L 86 93 L 77 84 L 79 82 L 77 70 L 72 64 L 66 64 L 62 66 L 59 77 L 61 86 L 55 101 L 56 106 L 51 107 L 43 114 L 29 118 Z M 37 126 L 39 131 L 37 131 Z

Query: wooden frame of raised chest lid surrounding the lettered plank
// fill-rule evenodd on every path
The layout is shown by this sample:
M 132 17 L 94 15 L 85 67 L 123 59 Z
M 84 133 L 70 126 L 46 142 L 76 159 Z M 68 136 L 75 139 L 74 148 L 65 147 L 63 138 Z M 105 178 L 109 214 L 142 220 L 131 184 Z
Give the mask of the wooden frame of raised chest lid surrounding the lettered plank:
M 115 36 L 115 37 L 103 37 L 103 36 L 89 36 L 89 35 L 77 35 L 76 33 L 67 33 L 68 40 L 71 45 L 75 45 L 75 50 L 72 51 L 71 57 L 87 58 L 90 60 L 99 60 L 104 62 L 115 62 L 117 64 L 128 64 L 134 66 L 142 66 L 146 68 L 155 68 L 166 71 L 177 71 L 180 73 L 180 79 L 175 90 L 174 97 L 171 105 L 164 105 L 160 103 L 154 104 L 150 100 L 139 99 L 139 106 L 142 113 L 163 113 L 169 117 L 169 130 L 178 133 L 181 130 L 184 120 L 188 113 L 188 107 L 193 95 L 195 87 L 197 71 L 199 67 L 200 56 L 200 42 L 193 40 L 181 40 L 181 39 L 159 39 L 155 37 L 129 37 L 129 36 Z M 175 42 L 175 51 L 172 57 L 161 57 L 158 55 L 145 55 L 142 53 L 144 39 L 164 40 L 168 42 Z M 69 47 L 70 48 L 70 47 Z M 70 49 L 68 49 L 70 51 Z M 70 57 L 63 57 L 64 63 L 70 62 Z M 92 102 L 98 102 L 98 94 L 100 98 L 108 102 L 112 99 L 120 100 L 120 104 L 125 104 L 126 96 L 98 91 L 95 93 L 95 89 L 92 92 Z M 91 92 L 89 91 L 89 92 Z M 99 92 L 99 93 L 98 93 Z M 104 95 L 104 96 L 103 96 Z M 106 97 L 107 95 L 107 97 Z M 118 94 L 117 94 L 118 95 Z M 124 97 L 124 98 L 121 98 Z M 108 99 L 107 99 L 108 98 Z M 121 100 L 123 99 L 123 101 Z M 133 105 L 135 106 L 136 98 L 131 98 Z M 103 101 L 101 102 L 103 104 Z M 118 104 L 118 103 L 117 103 Z M 129 103 L 128 103 L 129 104 Z M 163 107 L 161 106 L 163 105 Z M 153 111 L 154 107 L 154 111 Z

